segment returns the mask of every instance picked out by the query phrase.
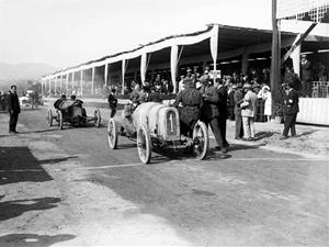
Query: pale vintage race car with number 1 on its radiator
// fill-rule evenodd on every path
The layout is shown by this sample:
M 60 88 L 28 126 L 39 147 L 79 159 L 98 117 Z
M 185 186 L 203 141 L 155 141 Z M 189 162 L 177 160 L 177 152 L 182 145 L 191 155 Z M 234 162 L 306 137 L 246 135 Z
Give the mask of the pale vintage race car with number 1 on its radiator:
M 209 145 L 208 130 L 205 123 L 198 121 L 195 124 L 192 139 L 183 137 L 180 133 L 178 110 L 155 102 L 139 104 L 129 117 L 123 112 L 120 122 L 110 119 L 107 139 L 112 149 L 116 149 L 120 135 L 136 141 L 138 155 L 144 164 L 150 161 L 152 146 L 175 146 L 191 141 L 193 142 L 193 154 L 197 159 L 204 159 Z

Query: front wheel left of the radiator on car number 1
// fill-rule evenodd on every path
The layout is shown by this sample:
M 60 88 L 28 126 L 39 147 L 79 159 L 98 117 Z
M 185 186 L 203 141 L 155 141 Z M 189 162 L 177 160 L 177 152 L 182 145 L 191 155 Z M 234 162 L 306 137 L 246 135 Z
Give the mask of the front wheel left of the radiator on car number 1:
M 151 157 L 151 141 L 150 135 L 144 125 L 137 131 L 137 150 L 140 161 L 148 164 Z

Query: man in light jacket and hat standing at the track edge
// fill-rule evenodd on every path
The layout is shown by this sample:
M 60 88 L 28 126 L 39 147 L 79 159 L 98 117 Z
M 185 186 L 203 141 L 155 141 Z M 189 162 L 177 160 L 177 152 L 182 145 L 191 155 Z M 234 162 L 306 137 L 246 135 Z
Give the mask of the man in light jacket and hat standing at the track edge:
M 257 94 L 252 91 L 252 87 L 249 83 L 243 85 L 246 92 L 241 106 L 242 124 L 245 132 L 245 141 L 254 141 L 254 116 L 256 116 L 256 101 Z

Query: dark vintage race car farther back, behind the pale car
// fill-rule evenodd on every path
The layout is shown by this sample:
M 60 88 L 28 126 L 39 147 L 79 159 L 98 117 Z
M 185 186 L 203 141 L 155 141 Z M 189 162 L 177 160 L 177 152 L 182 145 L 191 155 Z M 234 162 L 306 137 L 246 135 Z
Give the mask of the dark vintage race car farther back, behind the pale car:
M 47 125 L 53 125 L 53 120 L 57 122 L 58 128 L 63 130 L 64 123 L 69 123 L 73 126 L 80 126 L 88 122 L 94 122 L 94 126 L 101 125 L 101 112 L 99 109 L 94 110 L 93 116 L 87 116 L 86 109 L 82 108 L 82 101 L 76 100 L 61 100 L 56 101 L 54 106 L 56 108 L 56 115 L 53 115 L 50 109 L 47 111 Z

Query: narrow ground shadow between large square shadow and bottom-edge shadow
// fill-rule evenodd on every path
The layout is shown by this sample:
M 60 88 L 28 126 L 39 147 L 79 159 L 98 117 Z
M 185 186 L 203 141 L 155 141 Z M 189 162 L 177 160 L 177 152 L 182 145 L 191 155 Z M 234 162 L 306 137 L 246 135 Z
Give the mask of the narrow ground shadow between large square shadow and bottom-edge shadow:
M 59 198 L 38 198 L 0 202 L 0 221 L 18 217 L 25 212 L 36 210 L 49 210 L 57 206 Z M 2 246 L 0 244 L 0 246 Z

